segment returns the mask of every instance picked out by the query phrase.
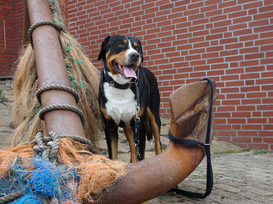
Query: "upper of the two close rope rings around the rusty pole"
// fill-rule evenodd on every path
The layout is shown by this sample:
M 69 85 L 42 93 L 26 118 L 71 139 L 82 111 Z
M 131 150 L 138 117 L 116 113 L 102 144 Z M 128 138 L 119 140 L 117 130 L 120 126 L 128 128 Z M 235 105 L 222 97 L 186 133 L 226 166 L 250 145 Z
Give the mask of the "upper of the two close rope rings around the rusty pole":
M 48 91 L 48 90 L 67 91 L 67 92 L 73 94 L 75 97 L 76 103 L 77 104 L 79 103 L 79 94 L 73 88 L 65 86 L 65 85 L 52 84 L 52 85 L 43 86 L 36 91 L 35 95 L 36 95 L 36 98 L 37 98 L 39 104 L 41 104 L 41 97 L 40 97 L 41 93 L 43 93 L 44 91 Z

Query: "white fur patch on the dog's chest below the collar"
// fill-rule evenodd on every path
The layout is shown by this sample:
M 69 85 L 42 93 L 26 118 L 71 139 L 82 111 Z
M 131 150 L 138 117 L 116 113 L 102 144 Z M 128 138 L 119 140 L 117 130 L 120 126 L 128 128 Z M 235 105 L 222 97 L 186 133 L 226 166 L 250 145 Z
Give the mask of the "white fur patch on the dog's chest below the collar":
M 126 126 L 130 126 L 130 120 L 135 115 L 135 94 L 128 89 L 110 87 L 107 82 L 103 84 L 104 94 L 107 98 L 106 110 L 118 125 L 122 120 Z

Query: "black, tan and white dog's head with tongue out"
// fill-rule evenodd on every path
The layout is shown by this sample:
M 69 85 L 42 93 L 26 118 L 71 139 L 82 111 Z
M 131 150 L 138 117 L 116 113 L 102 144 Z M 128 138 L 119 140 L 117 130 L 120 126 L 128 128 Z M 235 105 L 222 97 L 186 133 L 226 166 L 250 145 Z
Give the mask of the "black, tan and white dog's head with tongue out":
M 107 36 L 102 44 L 98 60 L 103 60 L 104 67 L 113 75 L 122 78 L 136 78 L 136 71 L 143 62 L 140 41 L 133 36 Z

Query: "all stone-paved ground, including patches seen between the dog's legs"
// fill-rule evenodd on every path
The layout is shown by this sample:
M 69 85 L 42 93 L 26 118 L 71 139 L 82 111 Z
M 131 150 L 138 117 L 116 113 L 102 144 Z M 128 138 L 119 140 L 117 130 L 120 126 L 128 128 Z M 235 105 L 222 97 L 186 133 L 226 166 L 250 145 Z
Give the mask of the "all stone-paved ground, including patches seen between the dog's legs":
M 0 148 L 11 134 L 12 83 L 0 81 Z M 167 131 L 170 120 L 161 118 L 161 142 L 163 149 L 169 144 Z M 100 154 L 107 156 L 106 141 L 101 135 Z M 130 161 L 130 149 L 122 130 L 119 130 L 119 159 Z M 212 143 L 214 187 L 211 195 L 194 199 L 176 193 L 165 193 L 146 203 L 273 203 L 273 153 L 245 151 L 240 147 L 215 138 Z M 145 157 L 153 157 L 154 146 L 146 143 Z M 206 187 L 206 160 L 178 187 L 193 192 L 204 192 Z

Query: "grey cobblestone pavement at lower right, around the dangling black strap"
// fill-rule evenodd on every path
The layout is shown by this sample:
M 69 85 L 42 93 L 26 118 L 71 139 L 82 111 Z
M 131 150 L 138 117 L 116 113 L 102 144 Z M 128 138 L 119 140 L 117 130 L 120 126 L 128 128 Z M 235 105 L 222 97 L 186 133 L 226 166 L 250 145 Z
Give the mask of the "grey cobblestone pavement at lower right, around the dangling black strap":
M 214 187 L 211 195 L 194 199 L 175 193 L 166 193 L 146 203 L 273 203 L 273 154 L 212 155 Z M 188 176 L 178 187 L 192 192 L 204 192 L 206 188 L 206 161 Z

